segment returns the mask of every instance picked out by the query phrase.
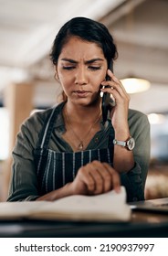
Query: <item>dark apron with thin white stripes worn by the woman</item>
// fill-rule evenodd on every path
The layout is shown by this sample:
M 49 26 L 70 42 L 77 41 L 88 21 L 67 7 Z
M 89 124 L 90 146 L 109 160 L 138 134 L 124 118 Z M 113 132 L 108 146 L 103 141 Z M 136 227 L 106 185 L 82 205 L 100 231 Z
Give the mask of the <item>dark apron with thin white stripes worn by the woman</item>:
M 39 134 L 39 140 L 35 150 L 39 195 L 45 195 L 50 191 L 63 187 L 68 182 L 72 182 L 77 175 L 79 167 L 93 160 L 99 160 L 100 162 L 106 162 L 112 165 L 113 129 L 110 129 L 110 146 L 108 148 L 91 149 L 80 152 L 55 152 L 49 149 L 49 139 L 57 115 L 58 109 L 53 108 Z

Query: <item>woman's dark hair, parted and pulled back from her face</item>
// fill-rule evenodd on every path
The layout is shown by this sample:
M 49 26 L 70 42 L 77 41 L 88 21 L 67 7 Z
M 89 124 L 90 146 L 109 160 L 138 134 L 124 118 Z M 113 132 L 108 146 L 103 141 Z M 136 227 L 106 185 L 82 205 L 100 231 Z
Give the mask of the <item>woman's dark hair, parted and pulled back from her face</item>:
M 103 50 L 109 67 L 113 59 L 118 57 L 116 45 L 107 27 L 87 17 L 74 17 L 60 28 L 54 40 L 50 53 L 50 59 L 54 65 L 58 64 L 58 57 L 69 37 L 79 37 L 82 40 L 96 43 Z

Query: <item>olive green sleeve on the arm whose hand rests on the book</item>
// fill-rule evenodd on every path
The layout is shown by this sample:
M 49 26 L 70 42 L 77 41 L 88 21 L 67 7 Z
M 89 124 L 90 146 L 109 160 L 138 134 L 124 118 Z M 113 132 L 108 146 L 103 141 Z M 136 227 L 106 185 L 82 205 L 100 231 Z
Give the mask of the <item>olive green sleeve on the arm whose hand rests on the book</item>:
M 37 123 L 36 115 L 23 123 L 17 134 L 12 152 L 13 164 L 7 201 L 35 200 L 39 197 L 33 151 L 37 144 L 38 128 L 41 125 L 35 123 Z

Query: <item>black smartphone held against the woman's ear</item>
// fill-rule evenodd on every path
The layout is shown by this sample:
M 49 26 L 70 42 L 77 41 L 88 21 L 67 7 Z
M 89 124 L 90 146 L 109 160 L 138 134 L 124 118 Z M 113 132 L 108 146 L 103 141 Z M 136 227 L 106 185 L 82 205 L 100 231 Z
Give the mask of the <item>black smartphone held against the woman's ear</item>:
M 113 72 L 112 61 L 110 62 L 109 69 Z M 106 80 L 110 80 L 110 77 L 107 75 Z M 110 93 L 103 92 L 102 103 L 101 103 L 101 111 L 102 111 L 102 122 L 105 123 L 108 116 L 108 111 L 110 109 Z

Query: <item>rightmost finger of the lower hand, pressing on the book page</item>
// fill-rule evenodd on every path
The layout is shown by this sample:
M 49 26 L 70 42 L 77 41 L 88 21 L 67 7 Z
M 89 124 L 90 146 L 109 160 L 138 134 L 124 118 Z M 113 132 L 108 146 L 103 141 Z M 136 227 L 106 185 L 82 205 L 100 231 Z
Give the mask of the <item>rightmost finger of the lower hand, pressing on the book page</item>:
M 112 188 L 116 192 L 120 192 L 121 191 L 121 178 L 120 178 L 119 173 L 114 168 L 112 168 L 109 164 L 103 163 L 103 165 L 110 172 Z

